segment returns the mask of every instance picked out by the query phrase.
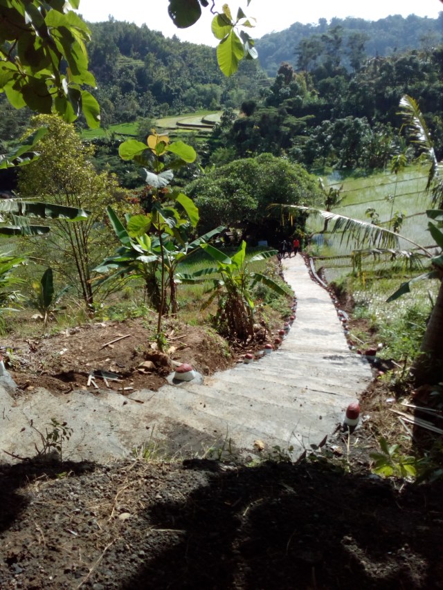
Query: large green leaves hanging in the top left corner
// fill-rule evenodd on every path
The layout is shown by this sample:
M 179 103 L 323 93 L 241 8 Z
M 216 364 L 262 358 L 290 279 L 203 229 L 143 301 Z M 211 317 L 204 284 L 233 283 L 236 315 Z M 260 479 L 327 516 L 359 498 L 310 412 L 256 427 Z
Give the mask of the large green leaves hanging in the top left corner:
M 75 14 L 79 0 L 3 0 L 0 3 L 0 91 L 20 109 L 55 112 L 71 122 L 82 112 L 98 127 L 98 103 L 84 85 L 89 28 Z

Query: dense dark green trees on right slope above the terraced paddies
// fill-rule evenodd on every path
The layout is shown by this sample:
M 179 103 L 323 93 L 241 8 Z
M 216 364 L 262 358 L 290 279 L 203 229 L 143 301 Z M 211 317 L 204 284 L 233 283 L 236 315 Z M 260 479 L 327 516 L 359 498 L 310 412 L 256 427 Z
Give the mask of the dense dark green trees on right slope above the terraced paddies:
M 221 149 L 225 161 L 269 151 L 309 169 L 382 169 L 404 149 L 397 114 L 404 94 L 426 113 L 440 157 L 442 93 L 443 46 L 370 59 L 356 73 L 332 61 L 313 73 L 282 64 L 261 100 L 244 102 L 243 116 L 215 129 L 211 159 L 217 163 Z

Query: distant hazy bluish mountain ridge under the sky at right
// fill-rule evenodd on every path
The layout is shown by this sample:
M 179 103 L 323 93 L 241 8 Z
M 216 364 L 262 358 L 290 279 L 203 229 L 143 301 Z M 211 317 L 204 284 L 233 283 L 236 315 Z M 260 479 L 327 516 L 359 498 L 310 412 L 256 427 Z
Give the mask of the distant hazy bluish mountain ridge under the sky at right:
M 432 47 L 443 43 L 443 12 L 437 19 L 410 15 L 392 15 L 377 21 L 365 21 L 354 17 L 327 22 L 319 19 L 318 24 L 293 23 L 279 33 L 269 33 L 256 39 L 255 47 L 262 68 L 270 76 L 275 76 L 280 64 L 288 62 L 297 68 L 297 50 L 302 39 L 321 38 L 329 35 L 336 27 L 343 28 L 343 48 L 350 36 L 361 33 L 368 37 L 364 50 L 368 57 L 387 56 L 404 50 Z M 343 55 L 345 57 L 346 54 Z M 345 64 L 347 65 L 347 64 Z

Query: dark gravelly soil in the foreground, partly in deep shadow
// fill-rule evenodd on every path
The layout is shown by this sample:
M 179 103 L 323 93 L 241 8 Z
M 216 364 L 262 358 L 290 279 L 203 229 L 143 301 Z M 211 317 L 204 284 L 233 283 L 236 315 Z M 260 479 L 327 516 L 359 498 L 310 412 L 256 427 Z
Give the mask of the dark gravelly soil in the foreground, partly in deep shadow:
M 318 459 L 4 465 L 0 585 L 439 589 L 443 486 Z

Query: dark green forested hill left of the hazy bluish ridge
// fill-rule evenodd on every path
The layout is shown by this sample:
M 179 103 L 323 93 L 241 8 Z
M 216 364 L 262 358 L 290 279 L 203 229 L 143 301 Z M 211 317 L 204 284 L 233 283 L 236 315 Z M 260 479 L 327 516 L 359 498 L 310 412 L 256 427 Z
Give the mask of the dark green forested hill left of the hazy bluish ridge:
M 90 68 L 105 126 L 116 120 L 219 109 L 220 104 L 237 108 L 260 77 L 266 78 L 257 62 L 246 60 L 235 77 L 226 78 L 215 48 L 167 39 L 145 25 L 110 19 L 89 26 Z

